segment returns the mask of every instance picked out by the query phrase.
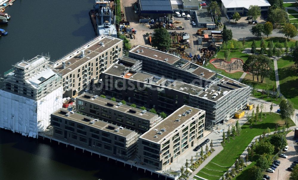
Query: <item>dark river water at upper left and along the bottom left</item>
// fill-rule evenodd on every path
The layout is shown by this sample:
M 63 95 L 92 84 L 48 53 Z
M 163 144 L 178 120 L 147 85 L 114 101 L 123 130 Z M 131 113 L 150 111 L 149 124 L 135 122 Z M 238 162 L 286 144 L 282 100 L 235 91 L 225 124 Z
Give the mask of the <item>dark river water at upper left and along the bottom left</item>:
M 23 58 L 49 53 L 57 60 L 95 36 L 88 12 L 93 0 L 16 0 L 5 12 L 9 34 L 0 37 L 0 74 Z M 0 180 L 152 180 L 122 163 L 73 147 L 0 129 Z

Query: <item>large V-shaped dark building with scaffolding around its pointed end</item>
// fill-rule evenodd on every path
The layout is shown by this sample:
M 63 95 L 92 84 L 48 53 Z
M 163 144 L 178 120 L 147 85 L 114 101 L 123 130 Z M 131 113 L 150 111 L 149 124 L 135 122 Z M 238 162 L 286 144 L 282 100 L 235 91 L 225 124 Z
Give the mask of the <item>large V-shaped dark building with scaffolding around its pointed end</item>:
M 210 126 L 229 120 L 249 102 L 251 87 L 177 56 L 143 46 L 129 56 L 139 62 L 115 63 L 103 72 L 103 94 L 167 114 L 190 105 L 206 111 Z

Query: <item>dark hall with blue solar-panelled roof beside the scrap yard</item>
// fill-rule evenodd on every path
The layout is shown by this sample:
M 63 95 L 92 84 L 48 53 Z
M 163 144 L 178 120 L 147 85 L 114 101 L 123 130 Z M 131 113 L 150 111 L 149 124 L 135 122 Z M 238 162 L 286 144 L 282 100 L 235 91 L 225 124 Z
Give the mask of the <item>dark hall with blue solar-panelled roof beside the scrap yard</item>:
M 173 9 L 170 0 L 139 0 L 139 15 L 158 19 L 159 17 L 173 17 Z

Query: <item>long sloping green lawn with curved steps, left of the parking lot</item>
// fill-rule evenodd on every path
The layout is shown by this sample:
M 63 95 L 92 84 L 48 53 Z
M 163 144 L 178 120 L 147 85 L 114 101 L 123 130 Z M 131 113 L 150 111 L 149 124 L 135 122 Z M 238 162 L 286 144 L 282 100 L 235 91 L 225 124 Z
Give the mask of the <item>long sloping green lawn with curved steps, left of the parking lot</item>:
M 226 142 L 224 145 L 224 150 L 222 150 L 217 156 L 215 156 L 211 160 L 211 162 L 214 162 L 221 166 L 231 167 L 255 136 L 262 134 L 262 132 L 267 128 L 270 128 L 271 131 L 274 131 L 276 123 L 280 124 L 280 129 L 283 128 L 284 121 L 280 119 L 279 114 L 272 113 L 267 114 L 266 118 L 263 118 L 261 122 L 257 122 L 257 124 L 252 125 L 251 128 L 249 127 L 250 125 L 244 124 L 241 127 L 242 131 L 240 133 L 240 136 L 236 136 L 235 139 L 231 139 L 229 143 Z M 290 126 L 294 125 L 293 121 L 290 121 L 289 123 Z M 212 170 L 227 170 L 226 167 L 220 167 L 211 162 L 209 162 L 205 167 Z M 208 176 L 204 173 L 214 176 L 222 176 L 224 174 L 223 172 L 221 173 L 212 170 L 203 168 L 199 173 L 197 173 L 197 175 L 205 179 L 216 180 L 219 178 Z

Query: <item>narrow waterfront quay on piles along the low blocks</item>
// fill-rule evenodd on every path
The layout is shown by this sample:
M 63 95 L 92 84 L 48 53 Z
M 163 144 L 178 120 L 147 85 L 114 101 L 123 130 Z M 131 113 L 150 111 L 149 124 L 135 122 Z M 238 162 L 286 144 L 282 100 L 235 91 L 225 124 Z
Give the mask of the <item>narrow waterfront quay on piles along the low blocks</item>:
M 53 136 L 53 129 L 49 129 L 48 131 L 39 133 L 38 138 L 43 139 L 43 140 L 48 139 L 51 143 L 54 143 L 54 142 L 57 143 L 58 142 L 58 145 L 63 144 L 66 147 L 72 146 L 74 148 L 74 150 L 80 149 L 80 150 L 83 151 L 83 153 L 85 153 L 85 151 L 87 151 L 91 154 L 91 156 L 94 156 L 94 154 L 95 154 L 95 155 L 98 155 L 99 158 L 105 157 L 105 158 L 107 158 L 108 161 L 111 159 L 111 160 L 114 160 L 115 163 L 119 163 L 119 162 L 123 163 L 124 167 L 130 166 L 131 168 L 135 168 L 137 171 L 144 171 L 144 173 L 149 171 L 151 173 L 151 176 L 157 175 L 158 178 L 159 177 L 164 177 L 165 179 L 175 179 L 176 180 L 180 176 L 180 173 L 176 173 L 176 176 L 173 175 L 173 174 L 175 174 L 175 171 L 171 170 L 171 169 L 168 169 L 166 171 L 156 170 L 154 168 L 139 164 L 136 161 L 134 161 L 135 157 L 132 157 L 129 160 L 123 160 L 123 159 L 119 159 L 119 158 L 116 158 L 116 157 L 113 157 L 113 156 L 109 156 L 109 155 L 97 152 L 95 150 L 92 150 L 88 146 L 77 145 L 77 144 L 72 144 L 70 142 L 66 142 L 65 139 Z

